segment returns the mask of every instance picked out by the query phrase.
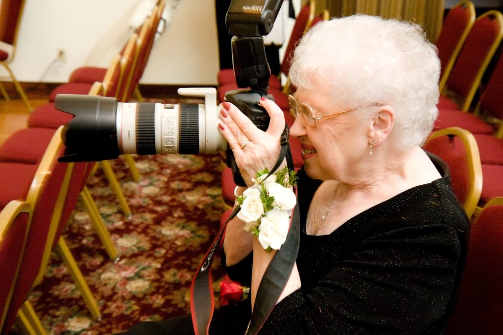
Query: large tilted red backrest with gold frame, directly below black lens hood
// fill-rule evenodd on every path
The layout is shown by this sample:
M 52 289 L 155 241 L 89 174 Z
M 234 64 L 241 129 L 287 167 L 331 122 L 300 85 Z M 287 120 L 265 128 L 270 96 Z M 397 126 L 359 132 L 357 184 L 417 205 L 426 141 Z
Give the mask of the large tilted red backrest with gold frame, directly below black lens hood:
M 69 182 L 69 172 L 71 174 L 69 165 L 57 162 L 57 158 L 63 153 L 62 129 L 61 126 L 54 133 L 26 196 L 25 202 L 30 204 L 33 214 L 30 218 L 30 229 L 21 267 L 6 316 L 4 325 L 6 329 L 12 326 L 19 308 L 26 300 L 40 272 L 45 269 L 49 258 L 46 250 L 52 247 L 59 223 L 60 208 L 59 212 L 55 208 L 58 201 L 64 202 L 61 198 L 66 190 L 62 186 Z

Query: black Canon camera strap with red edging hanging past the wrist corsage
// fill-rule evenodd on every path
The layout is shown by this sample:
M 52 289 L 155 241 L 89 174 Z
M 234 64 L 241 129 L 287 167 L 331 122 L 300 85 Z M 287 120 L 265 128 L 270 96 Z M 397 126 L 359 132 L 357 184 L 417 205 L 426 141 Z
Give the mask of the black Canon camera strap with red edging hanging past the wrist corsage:
M 285 124 L 285 130 L 281 135 L 281 150 L 275 166 L 269 172 L 273 174 L 283 162 L 287 160 L 287 166 L 293 170 L 293 159 L 288 144 L 288 126 Z M 268 175 L 268 176 L 269 176 Z M 267 176 L 267 177 L 268 177 Z M 266 178 L 267 178 L 266 177 Z M 218 231 L 215 240 L 210 249 L 206 252 L 203 260 L 199 264 L 194 279 L 191 284 L 191 314 L 194 332 L 196 335 L 209 333 L 211 318 L 214 310 L 214 296 L 211 279 L 211 265 L 213 256 L 220 245 L 220 240 L 225 232 L 227 224 L 236 216 L 240 207 L 235 207 L 229 218 L 224 222 Z M 246 328 L 246 334 L 256 334 L 266 322 L 269 314 L 273 310 L 283 288 L 290 277 L 293 266 L 297 259 L 299 250 L 300 219 L 298 209 L 298 199 L 295 208 L 291 214 L 290 229 L 285 243 L 280 250 L 276 252 L 269 264 L 262 281 L 260 282 L 257 296 L 255 299 L 254 311 L 251 314 L 250 322 Z

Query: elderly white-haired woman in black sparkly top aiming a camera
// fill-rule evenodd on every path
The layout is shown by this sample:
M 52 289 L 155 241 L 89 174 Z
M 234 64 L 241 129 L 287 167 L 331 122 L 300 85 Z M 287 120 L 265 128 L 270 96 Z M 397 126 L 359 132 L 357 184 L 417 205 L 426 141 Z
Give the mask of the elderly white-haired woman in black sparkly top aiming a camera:
M 421 148 L 437 116 L 439 72 L 435 47 L 414 24 L 353 16 L 302 38 L 289 72 L 297 88 L 290 135 L 305 162 L 300 247 L 261 333 L 442 332 L 469 224 L 446 164 Z M 274 166 L 285 124 L 274 102 L 261 104 L 271 117 L 266 132 L 228 102 L 221 110 L 219 128 L 248 186 Z M 231 278 L 251 284 L 250 299 L 215 311 L 211 334 L 245 332 L 276 252 L 244 225 L 229 223 L 223 262 Z M 168 331 L 171 322 L 158 326 Z M 190 327 L 189 318 L 177 322 Z

